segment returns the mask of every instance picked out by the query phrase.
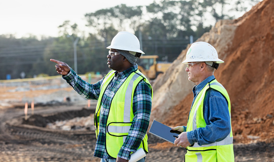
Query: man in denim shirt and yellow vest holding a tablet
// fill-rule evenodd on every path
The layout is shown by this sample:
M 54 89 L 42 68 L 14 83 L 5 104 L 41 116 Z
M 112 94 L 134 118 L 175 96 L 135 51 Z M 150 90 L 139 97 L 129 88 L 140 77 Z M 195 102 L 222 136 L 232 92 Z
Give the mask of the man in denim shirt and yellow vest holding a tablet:
M 196 84 L 187 126 L 172 128 L 182 132 L 174 144 L 186 147 L 185 161 L 234 161 L 230 100 L 214 77 L 223 62 L 206 42 L 193 43 L 182 62 L 188 80 Z

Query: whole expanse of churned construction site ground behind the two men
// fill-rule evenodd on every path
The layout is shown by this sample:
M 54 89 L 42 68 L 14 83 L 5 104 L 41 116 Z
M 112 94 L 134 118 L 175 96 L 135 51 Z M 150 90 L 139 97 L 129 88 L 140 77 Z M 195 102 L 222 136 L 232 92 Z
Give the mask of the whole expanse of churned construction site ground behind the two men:
M 39 85 L 38 82 L 0 84 L 0 161 L 100 161 L 93 157 L 96 143 L 93 123 L 85 124 L 87 120 L 93 122 L 96 101 L 91 101 L 88 107 L 86 100 L 63 83 L 65 81 L 55 79 Z M 60 93 L 63 90 L 66 92 Z M 44 102 L 35 102 L 32 115 L 30 103 L 39 101 L 41 95 Z M 28 103 L 27 120 L 25 102 Z M 76 126 L 76 118 L 77 123 L 85 121 Z M 70 123 L 69 130 L 51 128 L 53 124 L 49 123 L 56 124 L 56 121 Z M 146 161 L 184 161 L 185 148 L 149 133 L 148 137 Z M 273 143 L 235 141 L 235 161 L 274 161 L 273 149 Z

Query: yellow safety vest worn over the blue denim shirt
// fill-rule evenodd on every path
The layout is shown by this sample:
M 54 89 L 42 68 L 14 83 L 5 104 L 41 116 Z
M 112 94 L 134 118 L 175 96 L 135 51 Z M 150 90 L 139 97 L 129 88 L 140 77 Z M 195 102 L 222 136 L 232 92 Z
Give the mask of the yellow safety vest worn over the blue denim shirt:
M 230 99 L 228 93 L 226 89 L 215 79 L 207 85 L 205 85 L 203 89 L 198 93 L 197 98 L 195 99 L 190 111 L 186 129 L 187 132 L 193 131 L 199 127 L 205 127 L 207 125 L 203 118 L 203 101 L 205 97 L 205 92 L 209 88 L 216 89 L 225 96 L 228 102 L 228 110 L 230 114 Z M 188 146 L 185 161 L 234 161 L 232 128 L 230 129 L 230 133 L 228 134 L 228 136 L 222 141 L 201 146 L 199 146 L 195 142 L 193 146 Z

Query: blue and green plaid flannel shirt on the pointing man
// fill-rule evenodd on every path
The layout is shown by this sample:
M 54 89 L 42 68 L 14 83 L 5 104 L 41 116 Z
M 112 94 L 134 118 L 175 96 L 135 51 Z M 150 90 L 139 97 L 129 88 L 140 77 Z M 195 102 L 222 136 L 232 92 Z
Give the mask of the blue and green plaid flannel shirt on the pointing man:
M 121 72 L 115 72 L 115 77 L 108 85 L 105 94 L 101 99 L 100 107 L 100 123 L 99 123 L 99 134 L 94 150 L 94 156 L 99 158 L 112 158 L 106 151 L 106 124 L 108 113 L 111 106 L 112 98 L 114 94 L 123 84 L 126 78 L 134 71 L 138 69 L 138 65 L 135 63 L 133 67 Z M 90 84 L 82 80 L 76 73 L 71 69 L 70 73 L 63 76 L 68 84 L 70 84 L 80 95 L 86 99 L 98 100 L 100 94 L 101 79 L 95 84 Z M 113 103 L 115 104 L 115 103 Z M 129 130 L 129 134 L 121 147 L 118 157 L 129 159 L 130 152 L 135 152 L 141 142 L 143 141 L 150 120 L 151 105 L 152 105 L 152 93 L 150 86 L 142 80 L 135 88 L 133 94 L 133 114 L 134 118 Z

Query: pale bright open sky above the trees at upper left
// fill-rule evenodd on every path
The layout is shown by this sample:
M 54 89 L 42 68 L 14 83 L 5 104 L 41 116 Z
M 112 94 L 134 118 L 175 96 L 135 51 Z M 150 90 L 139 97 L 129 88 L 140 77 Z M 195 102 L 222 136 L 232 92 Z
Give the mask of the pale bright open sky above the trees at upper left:
M 58 36 L 58 26 L 65 20 L 85 28 L 84 15 L 120 4 L 147 6 L 154 0 L 0 0 L 0 35 L 13 34 L 16 38 L 30 34 Z

